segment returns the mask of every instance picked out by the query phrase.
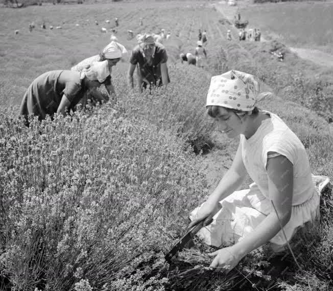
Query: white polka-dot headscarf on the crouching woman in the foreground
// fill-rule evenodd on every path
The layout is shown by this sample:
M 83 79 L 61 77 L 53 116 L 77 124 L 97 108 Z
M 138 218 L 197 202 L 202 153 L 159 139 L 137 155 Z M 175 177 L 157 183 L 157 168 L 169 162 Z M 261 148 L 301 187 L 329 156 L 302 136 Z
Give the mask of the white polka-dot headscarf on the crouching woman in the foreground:
M 251 111 L 258 101 L 272 96 L 270 92 L 259 94 L 259 91 L 259 83 L 253 75 L 231 70 L 211 77 L 206 106 Z

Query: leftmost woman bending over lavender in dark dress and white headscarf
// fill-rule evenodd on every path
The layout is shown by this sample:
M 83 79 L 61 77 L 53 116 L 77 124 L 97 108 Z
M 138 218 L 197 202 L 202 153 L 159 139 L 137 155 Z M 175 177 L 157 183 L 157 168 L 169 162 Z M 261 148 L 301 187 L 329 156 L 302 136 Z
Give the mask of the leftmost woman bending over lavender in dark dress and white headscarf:
M 57 70 L 46 72 L 37 77 L 28 87 L 20 105 L 20 115 L 38 116 L 39 120 L 55 113 L 66 115 L 89 92 L 96 100 L 103 100 L 97 88 L 106 80 L 107 61 L 97 62 L 83 72 Z

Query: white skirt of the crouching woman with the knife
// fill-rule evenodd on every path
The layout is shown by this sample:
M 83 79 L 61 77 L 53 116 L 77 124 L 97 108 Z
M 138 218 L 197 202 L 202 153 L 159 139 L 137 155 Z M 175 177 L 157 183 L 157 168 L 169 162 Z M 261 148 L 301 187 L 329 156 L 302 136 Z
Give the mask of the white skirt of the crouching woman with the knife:
M 287 225 L 283 227 L 288 242 L 292 239 L 298 227 L 308 221 L 320 219 L 320 193 L 328 184 L 329 179 L 326 176 L 319 175 L 312 175 L 312 178 L 315 184 L 312 197 L 301 205 L 292 206 L 291 218 Z M 233 245 L 252 233 L 271 211 L 271 201 L 260 192 L 255 183 L 250 185 L 250 189 L 233 192 L 223 199 L 220 204 L 222 208 L 213 217 L 212 223 L 197 233 L 206 244 L 218 248 Z M 190 213 L 189 218 L 191 220 L 195 218 L 200 207 Z M 279 253 L 286 250 L 287 241 L 282 230 L 270 242 L 274 252 Z

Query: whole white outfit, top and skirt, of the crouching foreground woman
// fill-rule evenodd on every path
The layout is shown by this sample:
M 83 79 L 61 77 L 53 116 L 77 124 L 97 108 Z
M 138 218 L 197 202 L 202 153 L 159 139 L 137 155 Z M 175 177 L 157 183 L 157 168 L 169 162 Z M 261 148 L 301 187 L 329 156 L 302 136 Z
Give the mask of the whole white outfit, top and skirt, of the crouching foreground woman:
M 234 191 L 220 201 L 221 210 L 211 224 L 197 234 L 209 245 L 220 248 L 240 241 L 274 211 L 266 170 L 270 151 L 286 156 L 293 164 L 294 172 L 291 218 L 283 227 L 284 234 L 280 230 L 270 240 L 273 250 L 280 252 L 287 248 L 284 235 L 290 241 L 298 227 L 320 219 L 320 192 L 329 182 L 328 177 L 312 175 L 305 148 L 295 133 L 277 115 L 269 111 L 264 113 L 271 118 L 261 122 L 251 138 L 240 137 L 243 162 L 254 183 L 249 189 Z M 201 207 L 191 212 L 191 219 Z

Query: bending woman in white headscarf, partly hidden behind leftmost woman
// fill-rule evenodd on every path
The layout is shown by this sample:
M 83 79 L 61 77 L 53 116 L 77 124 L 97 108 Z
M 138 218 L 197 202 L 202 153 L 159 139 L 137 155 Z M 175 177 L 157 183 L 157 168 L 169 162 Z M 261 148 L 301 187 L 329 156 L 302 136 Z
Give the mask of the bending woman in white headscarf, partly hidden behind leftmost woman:
M 112 39 L 114 39 L 114 36 L 111 36 Z M 104 82 L 105 88 L 107 93 L 112 96 L 114 99 L 116 99 L 114 87 L 111 81 L 111 72 L 112 72 L 112 66 L 115 66 L 118 61 L 121 60 L 122 57 L 127 53 L 127 50 L 123 46 L 123 44 L 118 43 L 114 40 L 112 40 L 102 51 L 102 53 L 98 55 L 94 55 L 92 57 L 86 58 L 83 61 L 79 62 L 75 66 L 70 69 L 71 71 L 77 71 L 82 72 L 84 69 L 88 69 L 93 63 L 101 62 L 101 61 L 107 61 L 108 63 L 108 71 L 109 75 L 107 79 Z M 104 96 L 104 95 L 103 95 Z M 87 100 L 89 97 L 87 98 Z M 109 97 L 105 96 L 104 101 L 108 101 Z M 85 106 L 85 104 L 82 104 L 82 106 Z

